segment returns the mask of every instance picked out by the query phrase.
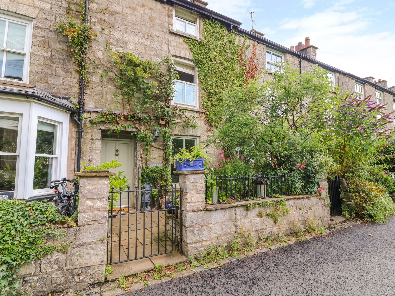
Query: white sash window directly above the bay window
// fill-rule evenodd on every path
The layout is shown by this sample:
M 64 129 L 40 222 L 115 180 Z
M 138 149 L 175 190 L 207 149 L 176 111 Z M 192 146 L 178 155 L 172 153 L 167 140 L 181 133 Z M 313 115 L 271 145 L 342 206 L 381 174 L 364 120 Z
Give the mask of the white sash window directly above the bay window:
M 32 22 L 0 13 L 0 77 L 28 83 Z

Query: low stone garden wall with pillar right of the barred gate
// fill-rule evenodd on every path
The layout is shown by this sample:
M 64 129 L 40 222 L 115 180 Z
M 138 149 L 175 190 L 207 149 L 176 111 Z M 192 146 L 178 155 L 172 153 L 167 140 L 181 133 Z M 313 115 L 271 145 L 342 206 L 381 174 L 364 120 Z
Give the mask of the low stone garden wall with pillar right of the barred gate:
M 285 197 L 290 213 L 278 218 L 278 223 L 266 215 L 257 217 L 259 210 L 270 212 L 271 207 L 246 210 L 246 205 L 263 201 L 281 200 L 268 198 L 235 202 L 233 204 L 206 205 L 204 197 L 204 172 L 179 172 L 182 188 L 182 250 L 185 255 L 198 256 L 210 246 L 223 245 L 235 234 L 251 232 L 255 238 L 292 234 L 304 229 L 307 223 L 328 225 L 330 219 L 328 184 L 320 182 L 321 195 L 293 195 Z

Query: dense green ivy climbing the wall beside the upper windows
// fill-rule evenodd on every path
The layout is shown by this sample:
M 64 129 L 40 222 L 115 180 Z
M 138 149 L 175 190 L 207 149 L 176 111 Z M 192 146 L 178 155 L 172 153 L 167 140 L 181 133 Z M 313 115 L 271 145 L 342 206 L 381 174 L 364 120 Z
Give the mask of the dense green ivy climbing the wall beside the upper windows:
M 209 124 L 216 125 L 217 118 L 212 112 L 217 106 L 217 95 L 229 87 L 245 83 L 245 53 L 247 38 L 237 40 L 237 35 L 229 32 L 220 22 L 203 19 L 202 38 L 185 38 L 192 51 L 192 62 L 198 68 L 198 78 L 202 94 L 201 105 Z M 242 61 L 242 67 L 239 65 Z

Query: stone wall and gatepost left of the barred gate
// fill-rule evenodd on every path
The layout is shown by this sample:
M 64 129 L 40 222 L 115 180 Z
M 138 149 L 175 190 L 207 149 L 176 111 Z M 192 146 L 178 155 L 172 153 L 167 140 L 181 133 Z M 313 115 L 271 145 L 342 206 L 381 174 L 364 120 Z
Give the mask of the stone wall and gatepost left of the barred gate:
M 107 220 L 109 176 L 106 172 L 81 172 L 79 176 L 78 223 L 67 227 L 61 240 L 49 244 L 70 244 L 65 253 L 55 252 L 22 266 L 21 294 L 44 295 L 64 290 L 81 290 L 104 281 L 107 264 Z

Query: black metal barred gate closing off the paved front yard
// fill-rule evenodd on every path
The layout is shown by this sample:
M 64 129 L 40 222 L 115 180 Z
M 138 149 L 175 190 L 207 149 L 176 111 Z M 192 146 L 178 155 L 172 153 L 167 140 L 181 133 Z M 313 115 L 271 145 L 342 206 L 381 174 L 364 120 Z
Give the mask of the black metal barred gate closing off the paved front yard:
M 179 187 L 111 188 L 109 200 L 108 264 L 182 251 Z

